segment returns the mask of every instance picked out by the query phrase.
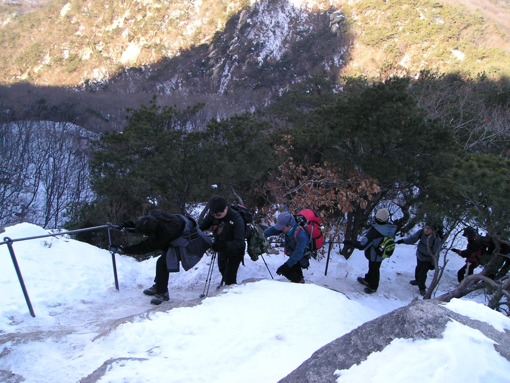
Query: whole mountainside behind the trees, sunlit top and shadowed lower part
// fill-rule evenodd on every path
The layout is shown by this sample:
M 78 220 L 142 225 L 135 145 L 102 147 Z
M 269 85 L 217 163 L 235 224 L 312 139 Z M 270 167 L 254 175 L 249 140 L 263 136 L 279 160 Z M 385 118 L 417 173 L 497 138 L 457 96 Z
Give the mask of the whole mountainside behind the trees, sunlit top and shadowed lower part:
M 507 3 L 490 4 L 487 15 L 507 14 Z M 340 81 L 421 70 L 510 77 L 504 28 L 431 0 L 58 0 L 2 20 L 3 106 L 71 105 L 72 122 L 95 132 L 121 129 L 125 108 L 153 94 L 179 108 L 205 103 L 205 126 L 261 109 L 320 70 Z

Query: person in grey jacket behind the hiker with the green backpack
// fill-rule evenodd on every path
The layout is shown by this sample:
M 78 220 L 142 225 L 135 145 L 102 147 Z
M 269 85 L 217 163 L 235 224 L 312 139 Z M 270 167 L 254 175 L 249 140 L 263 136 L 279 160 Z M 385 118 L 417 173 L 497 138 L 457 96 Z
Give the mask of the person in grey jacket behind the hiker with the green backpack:
M 421 230 L 418 230 L 413 235 L 397 241 L 397 244 L 414 245 L 418 242 L 416 247 L 416 268 L 415 279 L 409 281 L 413 286 L 418 286 L 420 294 L 423 296 L 426 293 L 427 286 L 427 273 L 429 270 L 434 270 L 436 264 L 430 254 L 437 254 L 441 248 L 441 237 L 437 234 L 438 227 L 432 224 L 426 224 Z

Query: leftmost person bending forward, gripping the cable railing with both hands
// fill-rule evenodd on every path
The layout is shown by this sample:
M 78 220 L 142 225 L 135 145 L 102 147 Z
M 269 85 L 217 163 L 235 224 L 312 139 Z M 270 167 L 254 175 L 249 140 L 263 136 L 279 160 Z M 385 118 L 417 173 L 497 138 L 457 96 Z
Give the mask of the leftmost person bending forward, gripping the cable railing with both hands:
M 140 255 L 152 251 L 163 251 L 163 255 L 156 262 L 156 277 L 154 285 L 143 291 L 144 294 L 154 296 L 150 303 L 161 304 L 169 300 L 168 279 L 170 271 L 167 268 L 166 253 L 172 241 L 181 236 L 186 226 L 185 221 L 177 214 L 170 214 L 163 210 L 150 210 L 136 222 L 124 221 L 117 228 L 119 230 L 134 229 L 145 240 L 131 246 L 114 246 L 112 252 Z

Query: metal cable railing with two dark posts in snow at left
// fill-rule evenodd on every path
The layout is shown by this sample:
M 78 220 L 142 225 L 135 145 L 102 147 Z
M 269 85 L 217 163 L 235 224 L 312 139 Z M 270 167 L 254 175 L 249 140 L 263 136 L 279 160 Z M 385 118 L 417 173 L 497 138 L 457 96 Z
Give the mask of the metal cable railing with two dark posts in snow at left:
M 18 277 L 18 281 L 21 286 L 23 296 L 25 298 L 25 301 L 27 302 L 27 306 L 29 308 L 29 312 L 32 317 L 35 318 L 34 308 L 32 307 L 32 302 L 30 301 L 27 287 L 25 286 L 25 282 L 23 281 L 23 276 L 21 275 L 21 270 L 19 269 L 18 261 L 16 259 L 16 254 L 14 252 L 13 243 L 20 242 L 20 241 L 37 240 L 39 238 L 46 238 L 46 237 L 56 237 L 59 235 L 77 234 L 77 233 L 82 233 L 85 231 L 108 229 L 108 240 L 110 242 L 110 246 L 112 246 L 111 230 L 112 230 L 112 228 L 116 228 L 116 227 L 117 226 L 108 222 L 106 225 L 103 225 L 103 226 L 95 226 L 95 227 L 88 227 L 88 228 L 84 228 L 84 229 L 62 231 L 62 232 L 58 232 L 58 233 L 48 233 L 48 234 L 44 234 L 44 235 L 34 235 L 31 237 L 14 238 L 14 239 L 9 238 L 9 237 L 4 237 L 4 241 L 0 242 L 0 245 L 7 245 L 8 249 L 9 249 L 9 253 L 11 254 L 12 263 L 14 265 L 14 270 L 16 271 L 16 275 Z M 112 253 L 111 251 L 110 251 L 110 253 L 112 255 L 112 265 L 113 265 L 113 276 L 114 276 L 114 280 L 115 280 L 115 289 L 119 290 L 119 281 L 117 278 L 117 265 L 115 262 L 115 253 Z

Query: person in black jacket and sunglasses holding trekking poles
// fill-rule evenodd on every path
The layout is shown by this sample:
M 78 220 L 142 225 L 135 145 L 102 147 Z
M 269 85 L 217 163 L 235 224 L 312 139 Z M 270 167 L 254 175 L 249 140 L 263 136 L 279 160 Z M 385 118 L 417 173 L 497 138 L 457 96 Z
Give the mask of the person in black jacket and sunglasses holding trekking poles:
M 218 254 L 218 270 L 225 284 L 236 284 L 237 271 L 246 248 L 243 217 L 228 206 L 226 199 L 215 196 L 209 202 L 209 212 L 200 221 L 199 227 L 201 230 L 213 228 L 212 249 Z

